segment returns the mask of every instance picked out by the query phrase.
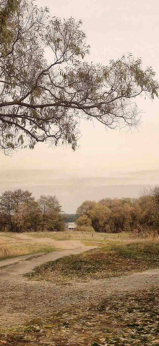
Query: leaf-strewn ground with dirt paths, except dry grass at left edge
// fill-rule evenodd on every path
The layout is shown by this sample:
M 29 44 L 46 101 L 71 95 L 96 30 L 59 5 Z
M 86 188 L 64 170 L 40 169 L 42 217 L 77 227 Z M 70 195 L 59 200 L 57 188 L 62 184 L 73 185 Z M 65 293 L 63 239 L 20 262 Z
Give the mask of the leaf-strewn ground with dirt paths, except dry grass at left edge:
M 159 344 L 158 239 L 14 237 L 61 250 L 0 262 L 0 345 Z

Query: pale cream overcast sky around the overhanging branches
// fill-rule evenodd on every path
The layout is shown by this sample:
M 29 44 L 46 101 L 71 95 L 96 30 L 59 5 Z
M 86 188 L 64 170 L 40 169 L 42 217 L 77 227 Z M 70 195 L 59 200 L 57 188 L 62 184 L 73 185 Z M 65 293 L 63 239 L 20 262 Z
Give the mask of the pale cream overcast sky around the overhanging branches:
M 159 78 L 159 2 L 153 0 L 38 0 L 52 16 L 83 22 L 90 45 L 88 62 L 107 65 L 131 52 L 152 66 Z M 51 58 L 51 57 L 49 57 Z M 0 153 L 0 192 L 27 188 L 36 197 L 56 194 L 66 212 L 86 199 L 137 197 L 144 186 L 159 183 L 159 100 L 136 99 L 142 110 L 138 129 L 107 130 L 82 121 L 79 148 L 38 145 L 12 157 Z

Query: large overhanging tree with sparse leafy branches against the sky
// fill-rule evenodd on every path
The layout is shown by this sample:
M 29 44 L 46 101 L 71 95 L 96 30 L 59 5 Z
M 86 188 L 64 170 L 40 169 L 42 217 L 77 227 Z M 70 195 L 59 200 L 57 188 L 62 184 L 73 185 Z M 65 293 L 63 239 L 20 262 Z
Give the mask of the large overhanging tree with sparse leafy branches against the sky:
M 46 141 L 69 143 L 74 150 L 80 117 L 112 129 L 133 127 L 135 98 L 158 96 L 155 73 L 142 70 L 141 60 L 131 54 L 108 66 L 82 62 L 89 46 L 81 24 L 51 18 L 47 8 L 30 0 L 2 1 L 0 148 L 5 153 Z

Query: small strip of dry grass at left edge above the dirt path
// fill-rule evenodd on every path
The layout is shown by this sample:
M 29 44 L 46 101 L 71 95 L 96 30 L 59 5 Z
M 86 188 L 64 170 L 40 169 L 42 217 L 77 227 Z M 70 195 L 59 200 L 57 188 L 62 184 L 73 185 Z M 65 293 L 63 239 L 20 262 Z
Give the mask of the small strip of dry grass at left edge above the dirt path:
M 54 251 L 54 248 L 38 244 L 2 244 L 0 245 L 0 261 L 7 258 Z

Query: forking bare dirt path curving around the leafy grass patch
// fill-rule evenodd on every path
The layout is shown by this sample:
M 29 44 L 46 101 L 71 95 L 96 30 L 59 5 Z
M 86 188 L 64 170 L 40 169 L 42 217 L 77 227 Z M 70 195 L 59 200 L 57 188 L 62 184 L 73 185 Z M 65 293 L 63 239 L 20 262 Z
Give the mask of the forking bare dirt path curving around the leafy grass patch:
M 0 269 L 0 323 L 10 326 L 27 318 L 96 302 L 118 293 L 159 285 L 159 269 L 112 279 L 58 286 L 51 282 L 28 281 L 22 274 L 35 266 L 65 255 L 79 254 L 93 247 L 52 252 Z M 14 259 L 15 260 L 15 259 Z

